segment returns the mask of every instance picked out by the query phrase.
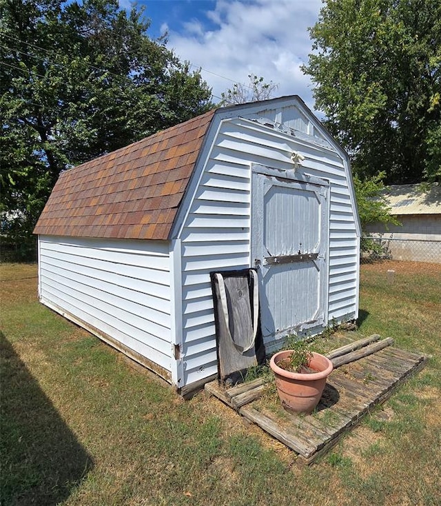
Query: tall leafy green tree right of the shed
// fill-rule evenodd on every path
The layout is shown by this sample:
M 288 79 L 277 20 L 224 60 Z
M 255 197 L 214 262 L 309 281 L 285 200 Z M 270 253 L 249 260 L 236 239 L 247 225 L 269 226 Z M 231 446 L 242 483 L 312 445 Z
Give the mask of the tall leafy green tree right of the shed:
M 441 178 L 441 2 L 327 0 L 303 70 L 360 176 Z

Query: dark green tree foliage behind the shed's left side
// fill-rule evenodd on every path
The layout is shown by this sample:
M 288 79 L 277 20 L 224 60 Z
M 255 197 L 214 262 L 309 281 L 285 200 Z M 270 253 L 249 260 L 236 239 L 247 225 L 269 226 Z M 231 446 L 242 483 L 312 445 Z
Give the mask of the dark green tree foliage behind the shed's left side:
M 211 90 L 117 0 L 0 9 L 1 225 L 22 247 L 61 170 L 209 110 Z

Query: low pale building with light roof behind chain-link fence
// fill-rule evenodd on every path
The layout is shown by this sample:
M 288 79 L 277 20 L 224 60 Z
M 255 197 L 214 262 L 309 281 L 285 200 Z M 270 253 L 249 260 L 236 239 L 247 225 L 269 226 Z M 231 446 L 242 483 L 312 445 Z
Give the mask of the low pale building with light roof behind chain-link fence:
M 384 196 L 401 225 L 372 223 L 366 232 L 394 260 L 441 263 L 440 185 L 390 185 Z

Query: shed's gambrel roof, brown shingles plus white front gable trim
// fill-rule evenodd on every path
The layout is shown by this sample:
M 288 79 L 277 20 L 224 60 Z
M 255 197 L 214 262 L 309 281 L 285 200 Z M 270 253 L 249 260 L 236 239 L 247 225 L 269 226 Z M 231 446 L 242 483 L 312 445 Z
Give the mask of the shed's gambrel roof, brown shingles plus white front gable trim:
M 338 152 L 360 232 L 347 154 L 300 97 L 292 95 L 212 110 L 62 172 L 34 234 L 171 239 L 174 225 L 189 205 L 184 196 L 191 199 L 195 190 L 190 180 L 196 181 L 195 169 L 201 168 L 198 160 L 207 156 L 220 123 L 238 117 L 254 121 L 256 128 L 271 128 L 280 135 L 312 143 L 319 152 Z M 280 156 L 286 158 L 287 153 L 278 154 L 278 159 Z M 289 156 L 287 161 L 291 163 Z

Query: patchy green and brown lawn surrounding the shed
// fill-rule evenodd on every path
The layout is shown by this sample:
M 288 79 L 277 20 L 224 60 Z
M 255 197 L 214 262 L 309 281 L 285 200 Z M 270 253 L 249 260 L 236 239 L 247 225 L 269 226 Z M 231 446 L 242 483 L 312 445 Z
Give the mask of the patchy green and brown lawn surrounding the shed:
M 36 275 L 0 267 L 2 505 L 440 503 L 440 265 L 362 266 L 359 332 L 431 358 L 311 467 L 43 307 Z

